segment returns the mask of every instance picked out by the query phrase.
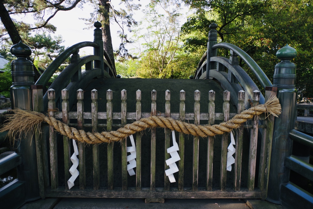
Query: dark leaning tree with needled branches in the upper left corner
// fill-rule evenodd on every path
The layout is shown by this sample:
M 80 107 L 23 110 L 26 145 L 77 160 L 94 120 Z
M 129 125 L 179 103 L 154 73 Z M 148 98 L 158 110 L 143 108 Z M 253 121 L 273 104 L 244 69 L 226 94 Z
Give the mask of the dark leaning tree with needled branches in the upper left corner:
M 56 30 L 55 26 L 49 24 L 49 20 L 59 11 L 68 11 L 76 7 L 81 0 L 75 1 L 49 1 L 49 0 L 0 0 L 0 41 L 8 42 L 7 34 L 13 44 L 22 41 L 22 33 L 28 34 L 29 31 L 45 29 L 49 32 Z M 33 24 L 16 22 L 10 17 L 13 14 L 32 14 L 35 22 Z M 48 16 L 48 17 L 47 17 Z M 23 37 L 24 38 L 24 37 Z M 23 40 L 24 41 L 24 40 Z M 30 57 L 27 59 L 31 60 Z M 38 80 L 40 73 L 34 66 L 35 81 Z

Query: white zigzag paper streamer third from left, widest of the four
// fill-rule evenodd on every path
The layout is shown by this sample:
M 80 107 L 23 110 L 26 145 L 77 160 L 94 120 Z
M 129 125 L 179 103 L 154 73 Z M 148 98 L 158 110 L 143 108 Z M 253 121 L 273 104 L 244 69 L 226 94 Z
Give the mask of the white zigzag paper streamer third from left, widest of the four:
M 175 162 L 180 160 L 179 154 L 177 152 L 179 148 L 176 142 L 174 131 L 172 131 L 172 138 L 173 138 L 173 146 L 167 149 L 167 153 L 171 155 L 171 158 L 165 161 L 166 165 L 170 167 L 169 169 L 165 171 L 165 174 L 168 176 L 168 179 L 170 180 L 171 183 L 176 182 L 173 173 L 176 173 L 178 171 L 178 167 Z

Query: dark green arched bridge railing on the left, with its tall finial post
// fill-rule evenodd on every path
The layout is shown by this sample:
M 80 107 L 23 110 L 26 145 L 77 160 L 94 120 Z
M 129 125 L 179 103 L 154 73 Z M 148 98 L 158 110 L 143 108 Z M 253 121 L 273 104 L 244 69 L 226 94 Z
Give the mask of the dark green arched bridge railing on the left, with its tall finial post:
M 113 66 L 108 54 L 103 50 L 102 26 L 100 22 L 94 24 L 94 41 L 80 42 L 74 44 L 59 55 L 40 76 L 36 85 L 47 85 L 49 79 L 58 70 L 60 65 L 71 56 L 71 63 L 60 73 L 54 83 L 49 87 L 56 92 L 56 108 L 61 110 L 61 90 L 66 88 L 69 92 L 74 92 L 79 88 L 84 88 L 93 78 L 116 77 L 115 66 Z M 93 47 L 94 55 L 80 57 L 79 51 L 84 47 Z M 105 59 L 104 59 L 105 58 Z M 85 65 L 86 71 L 82 72 L 81 67 Z M 76 101 L 75 98 L 69 98 L 71 106 Z M 48 95 L 44 95 L 44 110 L 47 110 Z

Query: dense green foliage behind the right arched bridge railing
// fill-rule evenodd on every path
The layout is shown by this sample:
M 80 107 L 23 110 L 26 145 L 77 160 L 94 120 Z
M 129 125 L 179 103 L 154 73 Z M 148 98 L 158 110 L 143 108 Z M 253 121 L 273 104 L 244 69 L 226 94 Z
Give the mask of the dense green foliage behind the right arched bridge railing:
M 309 0 L 184 0 L 196 9 L 182 26 L 187 51 L 206 49 L 209 24 L 218 24 L 218 41 L 235 44 L 247 52 L 271 80 L 279 60 L 276 52 L 285 44 L 298 51 L 292 60 L 297 65 L 298 101 L 313 98 L 313 4 Z M 219 55 L 229 56 L 221 50 Z M 251 70 L 239 60 L 248 74 Z

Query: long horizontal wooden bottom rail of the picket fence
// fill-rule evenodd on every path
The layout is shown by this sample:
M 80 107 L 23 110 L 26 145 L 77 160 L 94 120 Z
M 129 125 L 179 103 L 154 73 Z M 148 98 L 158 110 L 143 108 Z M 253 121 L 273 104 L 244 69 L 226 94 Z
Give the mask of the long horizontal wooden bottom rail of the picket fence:
M 47 197 L 92 197 L 92 198 L 261 198 L 261 191 L 255 189 L 248 191 L 220 191 L 218 188 L 213 188 L 212 191 L 206 191 L 205 188 L 199 188 L 198 191 L 192 191 L 192 188 L 184 188 L 184 192 L 179 192 L 177 188 L 171 188 L 169 191 L 164 191 L 164 188 L 156 188 L 156 191 L 151 192 L 150 188 L 141 188 L 141 191 L 136 191 L 136 188 L 129 188 L 128 191 L 123 191 L 122 188 L 115 188 L 113 191 L 101 189 L 93 190 L 78 190 L 73 187 L 71 190 L 64 190 L 60 187 L 58 190 L 47 189 L 45 192 Z

